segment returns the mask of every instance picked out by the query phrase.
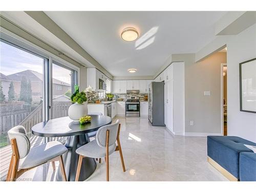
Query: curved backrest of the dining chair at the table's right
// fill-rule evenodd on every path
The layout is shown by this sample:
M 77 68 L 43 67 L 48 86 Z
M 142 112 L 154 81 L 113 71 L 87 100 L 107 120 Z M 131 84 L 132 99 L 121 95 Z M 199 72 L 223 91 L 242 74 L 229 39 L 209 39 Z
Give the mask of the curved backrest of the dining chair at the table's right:
M 119 120 L 110 125 L 104 125 L 98 129 L 96 134 L 96 141 L 99 146 L 106 147 L 106 131 L 109 130 L 109 146 L 113 145 L 117 139 Z

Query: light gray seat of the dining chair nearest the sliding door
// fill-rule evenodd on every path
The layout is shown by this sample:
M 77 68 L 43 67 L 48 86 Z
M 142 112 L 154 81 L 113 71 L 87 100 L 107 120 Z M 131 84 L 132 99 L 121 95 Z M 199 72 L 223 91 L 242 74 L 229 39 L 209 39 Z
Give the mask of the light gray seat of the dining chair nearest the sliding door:
M 19 168 L 30 168 L 46 163 L 67 151 L 67 147 L 58 141 L 50 141 L 48 143 L 38 145 L 31 148 L 29 154 L 25 158 L 19 160 Z

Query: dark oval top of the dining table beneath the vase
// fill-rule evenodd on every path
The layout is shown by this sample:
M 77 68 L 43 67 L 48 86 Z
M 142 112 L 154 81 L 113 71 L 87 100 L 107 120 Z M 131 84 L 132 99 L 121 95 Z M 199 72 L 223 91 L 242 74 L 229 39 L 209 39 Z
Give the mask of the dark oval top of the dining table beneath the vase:
M 40 137 L 66 137 L 97 131 L 101 126 L 111 124 L 111 117 L 90 115 L 91 122 L 80 125 L 69 117 L 60 117 L 37 123 L 32 127 L 32 134 Z

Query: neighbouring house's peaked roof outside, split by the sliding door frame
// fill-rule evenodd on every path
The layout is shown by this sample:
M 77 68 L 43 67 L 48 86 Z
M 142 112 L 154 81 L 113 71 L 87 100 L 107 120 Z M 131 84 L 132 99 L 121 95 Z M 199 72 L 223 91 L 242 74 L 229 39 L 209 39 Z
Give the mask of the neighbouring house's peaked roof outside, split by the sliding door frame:
M 31 81 L 42 81 L 43 79 L 43 76 L 41 73 L 38 73 L 32 70 L 26 70 L 26 71 L 14 73 L 14 74 L 8 75 L 7 77 L 13 81 L 21 81 L 23 76 L 26 76 L 27 79 L 30 79 Z M 63 86 L 70 86 L 69 83 L 66 83 L 54 78 L 53 78 L 53 83 L 61 84 Z

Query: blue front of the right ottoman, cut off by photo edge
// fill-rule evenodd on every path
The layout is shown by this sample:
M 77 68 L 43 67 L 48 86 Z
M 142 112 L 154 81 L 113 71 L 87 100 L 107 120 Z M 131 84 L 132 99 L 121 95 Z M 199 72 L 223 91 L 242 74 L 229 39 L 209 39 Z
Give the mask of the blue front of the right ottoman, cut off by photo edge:
M 256 181 L 256 154 L 240 153 L 240 181 Z

